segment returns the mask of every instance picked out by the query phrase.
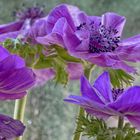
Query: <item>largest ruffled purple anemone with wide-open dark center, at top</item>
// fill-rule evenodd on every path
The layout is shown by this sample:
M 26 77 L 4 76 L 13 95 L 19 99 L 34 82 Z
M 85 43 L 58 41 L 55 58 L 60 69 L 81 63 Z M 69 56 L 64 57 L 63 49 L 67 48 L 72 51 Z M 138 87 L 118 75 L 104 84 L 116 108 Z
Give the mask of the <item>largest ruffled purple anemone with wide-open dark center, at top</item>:
M 125 17 L 111 12 L 88 16 L 82 11 L 75 16 L 67 5 L 55 7 L 48 14 L 48 34 L 37 41 L 65 46 L 70 55 L 102 67 L 136 72 L 127 62 L 140 61 L 140 35 L 121 40 Z

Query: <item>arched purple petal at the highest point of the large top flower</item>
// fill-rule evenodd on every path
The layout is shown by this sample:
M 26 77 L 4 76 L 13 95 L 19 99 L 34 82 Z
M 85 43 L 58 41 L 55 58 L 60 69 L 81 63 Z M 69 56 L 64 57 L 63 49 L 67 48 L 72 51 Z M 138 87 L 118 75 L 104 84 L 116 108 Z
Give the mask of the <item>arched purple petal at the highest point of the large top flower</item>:
M 67 6 L 62 4 L 55 7 L 48 15 L 47 25 L 48 25 L 48 32 L 50 33 L 59 18 L 66 18 L 67 22 L 69 23 L 70 27 L 75 30 L 75 25 L 72 20 L 72 17 L 67 9 Z

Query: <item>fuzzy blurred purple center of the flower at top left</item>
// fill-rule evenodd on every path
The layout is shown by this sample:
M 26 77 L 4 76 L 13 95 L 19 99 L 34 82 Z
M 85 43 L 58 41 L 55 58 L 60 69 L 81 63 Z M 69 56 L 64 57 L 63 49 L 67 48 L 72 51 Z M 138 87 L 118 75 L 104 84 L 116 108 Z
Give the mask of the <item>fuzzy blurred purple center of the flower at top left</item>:
M 30 7 L 26 8 L 21 11 L 16 12 L 16 17 L 20 20 L 26 20 L 26 19 L 38 19 L 44 16 L 44 10 L 42 7 Z

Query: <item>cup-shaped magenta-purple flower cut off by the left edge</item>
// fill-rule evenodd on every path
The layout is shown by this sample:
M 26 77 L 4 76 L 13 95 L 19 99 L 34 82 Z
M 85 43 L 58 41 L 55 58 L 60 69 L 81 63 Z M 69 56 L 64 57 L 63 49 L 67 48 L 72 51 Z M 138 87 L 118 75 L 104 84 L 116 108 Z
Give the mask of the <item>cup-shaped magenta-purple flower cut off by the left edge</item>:
M 0 46 L 0 100 L 19 99 L 35 83 L 35 75 L 24 60 Z

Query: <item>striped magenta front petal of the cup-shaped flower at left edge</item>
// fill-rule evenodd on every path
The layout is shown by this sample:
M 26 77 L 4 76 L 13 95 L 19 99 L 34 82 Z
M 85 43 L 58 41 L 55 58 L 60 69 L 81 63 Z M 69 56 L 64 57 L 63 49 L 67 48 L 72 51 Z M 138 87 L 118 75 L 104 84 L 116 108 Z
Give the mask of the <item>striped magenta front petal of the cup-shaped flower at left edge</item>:
M 27 68 L 15 69 L 0 74 L 0 92 L 14 94 L 25 92 L 35 82 L 34 73 Z

